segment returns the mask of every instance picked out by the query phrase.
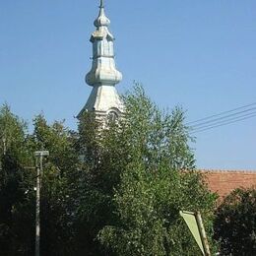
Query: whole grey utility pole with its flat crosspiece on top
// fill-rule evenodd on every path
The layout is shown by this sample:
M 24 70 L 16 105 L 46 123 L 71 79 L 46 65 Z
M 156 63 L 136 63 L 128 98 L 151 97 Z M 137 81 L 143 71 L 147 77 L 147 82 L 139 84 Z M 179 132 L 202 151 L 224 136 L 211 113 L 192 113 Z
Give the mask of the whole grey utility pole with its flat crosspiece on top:
M 36 166 L 36 203 L 35 203 L 35 248 L 34 255 L 40 255 L 40 186 L 42 173 L 42 159 L 49 156 L 48 151 L 34 152 Z M 39 164 L 38 164 L 39 163 Z

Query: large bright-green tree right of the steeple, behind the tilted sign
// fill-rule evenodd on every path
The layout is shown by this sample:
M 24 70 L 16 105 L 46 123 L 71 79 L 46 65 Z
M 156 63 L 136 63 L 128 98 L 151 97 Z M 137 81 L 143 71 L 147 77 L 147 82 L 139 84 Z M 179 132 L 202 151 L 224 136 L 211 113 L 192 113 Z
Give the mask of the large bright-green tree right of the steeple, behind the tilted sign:
M 85 164 L 80 214 L 103 246 L 95 255 L 199 255 L 178 213 L 201 211 L 211 237 L 215 196 L 195 171 L 183 111 L 160 111 L 140 86 L 124 101 Z

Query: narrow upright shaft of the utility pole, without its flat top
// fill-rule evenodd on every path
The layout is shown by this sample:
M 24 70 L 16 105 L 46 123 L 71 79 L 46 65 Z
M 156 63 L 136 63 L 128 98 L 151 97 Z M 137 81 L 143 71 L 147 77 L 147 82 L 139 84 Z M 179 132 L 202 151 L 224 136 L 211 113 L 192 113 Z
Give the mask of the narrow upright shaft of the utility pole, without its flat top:
M 36 158 L 36 204 L 35 204 L 35 256 L 40 255 L 40 170 L 41 170 L 41 157 L 40 166 L 38 158 Z

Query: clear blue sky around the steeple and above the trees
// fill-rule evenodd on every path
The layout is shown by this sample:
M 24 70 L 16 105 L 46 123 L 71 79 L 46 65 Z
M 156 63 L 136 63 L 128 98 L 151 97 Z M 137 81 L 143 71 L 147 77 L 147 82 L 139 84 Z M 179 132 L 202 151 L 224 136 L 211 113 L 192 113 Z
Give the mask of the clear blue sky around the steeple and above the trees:
M 0 3 L 0 104 L 28 121 L 43 111 L 75 129 L 91 88 L 98 1 Z M 141 82 L 187 120 L 256 101 L 255 0 L 105 0 L 123 81 Z M 256 117 L 197 134 L 198 167 L 256 169 Z

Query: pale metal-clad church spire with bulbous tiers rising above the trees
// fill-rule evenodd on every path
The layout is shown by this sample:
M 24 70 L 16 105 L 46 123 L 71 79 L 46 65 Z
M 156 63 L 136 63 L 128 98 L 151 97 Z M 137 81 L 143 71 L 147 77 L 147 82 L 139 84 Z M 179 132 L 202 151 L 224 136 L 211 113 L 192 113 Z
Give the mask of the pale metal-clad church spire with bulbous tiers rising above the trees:
M 123 104 L 115 85 L 122 80 L 114 61 L 114 36 L 108 31 L 109 19 L 105 16 L 103 0 L 100 0 L 99 14 L 95 21 L 96 31 L 90 41 L 93 43 L 93 64 L 86 75 L 86 83 L 93 87 L 92 93 L 78 118 L 84 111 L 95 112 L 98 121 L 116 119 L 122 115 Z

